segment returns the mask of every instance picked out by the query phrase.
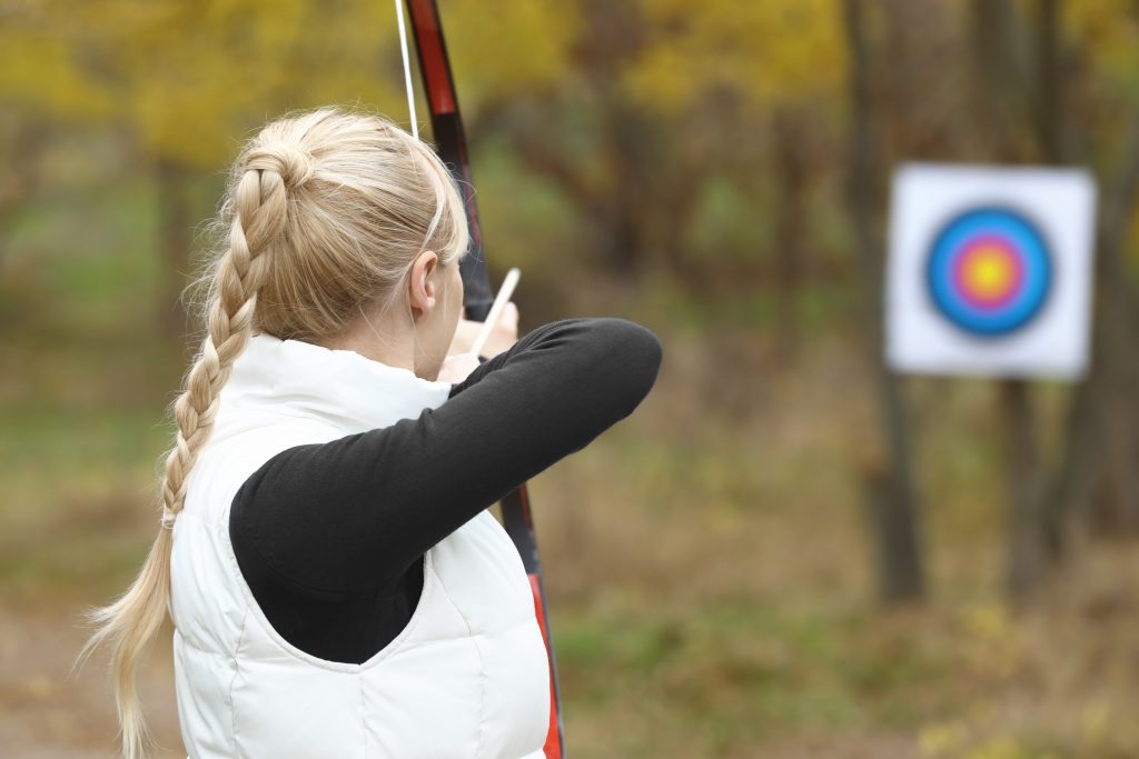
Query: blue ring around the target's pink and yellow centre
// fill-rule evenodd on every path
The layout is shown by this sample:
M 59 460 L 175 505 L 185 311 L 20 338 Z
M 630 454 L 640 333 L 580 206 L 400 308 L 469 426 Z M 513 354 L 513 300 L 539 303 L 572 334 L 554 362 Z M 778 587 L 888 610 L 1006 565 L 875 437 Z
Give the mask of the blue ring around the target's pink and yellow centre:
M 994 310 L 969 303 L 953 280 L 954 265 L 969 242 L 988 236 L 1008 240 L 1024 270 L 1019 290 Z M 1052 270 L 1043 234 L 1023 214 L 1001 207 L 972 208 L 953 216 L 934 238 L 926 262 L 926 287 L 937 312 L 954 327 L 973 336 L 1000 337 L 1036 317 L 1051 292 Z

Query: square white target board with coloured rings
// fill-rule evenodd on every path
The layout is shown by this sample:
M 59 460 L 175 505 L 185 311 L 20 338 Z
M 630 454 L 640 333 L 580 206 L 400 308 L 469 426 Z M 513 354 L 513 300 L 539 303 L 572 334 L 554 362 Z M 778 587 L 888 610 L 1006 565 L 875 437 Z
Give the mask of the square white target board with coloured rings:
M 1079 379 L 1095 214 L 1096 185 L 1081 170 L 901 166 L 890 211 L 887 365 Z

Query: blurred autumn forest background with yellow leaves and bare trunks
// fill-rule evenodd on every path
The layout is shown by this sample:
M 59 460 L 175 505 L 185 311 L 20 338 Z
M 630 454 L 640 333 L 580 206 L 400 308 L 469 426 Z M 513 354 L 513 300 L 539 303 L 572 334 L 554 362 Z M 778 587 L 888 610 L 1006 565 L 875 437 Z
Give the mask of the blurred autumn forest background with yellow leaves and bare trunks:
M 1139 3 L 440 6 L 524 329 L 665 344 L 532 484 L 571 756 L 1139 757 Z M 229 162 L 294 108 L 408 123 L 395 14 L 0 0 L 0 752 L 109 757 L 79 613 L 157 528 Z M 1085 381 L 882 368 L 910 159 L 1096 174 Z M 145 687 L 185 756 L 166 647 Z

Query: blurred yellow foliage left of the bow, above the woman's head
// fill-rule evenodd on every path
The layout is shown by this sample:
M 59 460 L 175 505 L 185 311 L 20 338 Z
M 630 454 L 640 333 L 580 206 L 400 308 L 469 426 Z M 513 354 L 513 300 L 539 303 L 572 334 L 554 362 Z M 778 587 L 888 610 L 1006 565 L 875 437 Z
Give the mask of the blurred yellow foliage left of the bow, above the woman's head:
M 361 104 L 407 121 L 388 3 L 42 3 L 0 43 L 0 99 L 123 122 L 146 151 L 189 166 L 223 164 L 243 134 L 289 109 Z

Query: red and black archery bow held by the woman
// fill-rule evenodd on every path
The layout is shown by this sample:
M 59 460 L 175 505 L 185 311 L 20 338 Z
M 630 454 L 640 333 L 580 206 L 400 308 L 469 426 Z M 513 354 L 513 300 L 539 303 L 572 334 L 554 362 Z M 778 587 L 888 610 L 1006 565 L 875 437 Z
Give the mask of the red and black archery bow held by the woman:
M 419 71 L 423 75 L 424 89 L 431 108 L 432 132 L 436 150 L 458 183 L 467 207 L 467 225 L 470 230 L 472 249 L 460 262 L 467 317 L 483 321 L 493 303 L 493 296 L 491 295 L 490 277 L 486 273 L 486 259 L 483 256 L 478 205 L 475 203 L 475 185 L 470 175 L 470 162 L 467 157 L 467 140 L 462 131 L 462 119 L 459 116 L 459 100 L 454 92 L 454 80 L 451 76 L 446 44 L 443 41 L 443 26 L 435 0 L 407 0 L 407 6 L 411 20 L 411 32 L 416 40 Z M 402 35 L 403 15 L 400 0 L 396 0 L 396 11 L 401 24 L 404 73 L 408 75 L 410 92 L 410 74 L 407 67 L 407 44 Z M 413 122 L 413 109 L 411 118 Z M 534 596 L 534 613 L 542 630 L 542 641 L 546 643 L 546 653 L 550 663 L 550 726 L 543 750 L 547 759 L 563 759 L 565 750 L 562 695 L 558 691 L 554 641 L 550 637 L 546 587 L 542 583 L 542 566 L 538 558 L 538 541 L 534 537 L 534 520 L 531 515 L 530 496 L 525 482 L 502 498 L 501 509 L 502 526 L 510 539 L 514 541 L 515 547 L 518 548 L 522 563 L 530 578 L 530 587 Z

